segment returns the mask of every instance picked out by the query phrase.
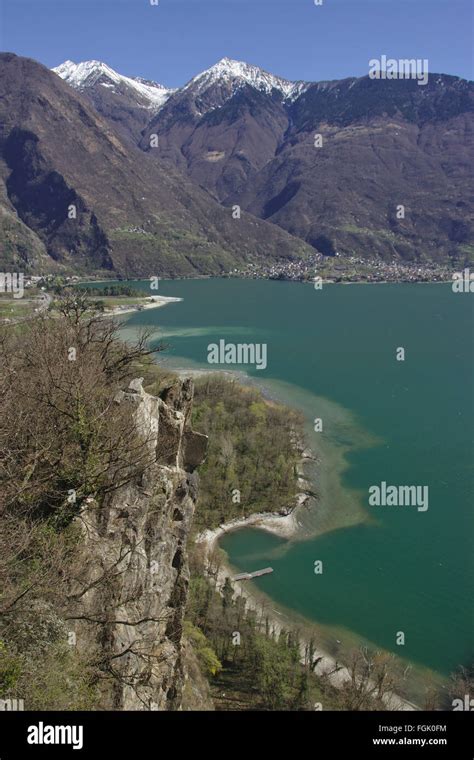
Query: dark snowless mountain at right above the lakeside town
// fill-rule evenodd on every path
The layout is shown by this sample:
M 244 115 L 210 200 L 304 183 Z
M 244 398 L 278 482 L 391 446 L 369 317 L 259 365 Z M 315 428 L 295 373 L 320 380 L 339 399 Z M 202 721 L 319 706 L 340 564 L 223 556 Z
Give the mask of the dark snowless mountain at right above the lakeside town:
M 454 77 L 426 88 L 368 78 L 314 85 L 291 107 L 275 156 L 224 201 L 328 255 L 468 260 L 473 96 Z

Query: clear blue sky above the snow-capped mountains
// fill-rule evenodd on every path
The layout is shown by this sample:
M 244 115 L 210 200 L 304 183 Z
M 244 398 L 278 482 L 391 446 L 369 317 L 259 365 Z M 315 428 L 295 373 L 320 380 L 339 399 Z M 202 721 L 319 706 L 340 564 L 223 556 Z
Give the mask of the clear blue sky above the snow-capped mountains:
M 170 87 L 224 56 L 288 79 L 363 76 L 383 54 L 472 79 L 472 38 L 472 0 L 0 0 L 2 50 Z

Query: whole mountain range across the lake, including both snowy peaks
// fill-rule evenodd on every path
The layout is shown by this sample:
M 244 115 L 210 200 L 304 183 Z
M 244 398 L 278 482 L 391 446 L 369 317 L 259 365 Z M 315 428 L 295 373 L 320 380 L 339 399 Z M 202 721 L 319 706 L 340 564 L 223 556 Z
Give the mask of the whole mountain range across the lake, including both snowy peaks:
M 224 58 L 169 89 L 1 54 L 0 260 L 128 276 L 336 253 L 462 266 L 473 110 L 473 83 L 442 74 L 289 82 Z

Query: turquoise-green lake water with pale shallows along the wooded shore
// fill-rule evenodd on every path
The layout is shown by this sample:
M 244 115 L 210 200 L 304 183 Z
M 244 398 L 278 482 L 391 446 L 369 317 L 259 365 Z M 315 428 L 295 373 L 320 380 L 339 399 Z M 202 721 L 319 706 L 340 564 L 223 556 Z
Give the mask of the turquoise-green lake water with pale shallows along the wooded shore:
M 124 333 L 156 328 L 179 366 L 209 366 L 219 339 L 265 343 L 265 370 L 225 368 L 301 409 L 321 457 L 320 498 L 297 540 L 228 534 L 230 563 L 271 565 L 256 587 L 343 644 L 357 636 L 441 674 L 472 662 L 472 295 L 448 284 L 319 291 L 226 279 L 163 281 L 159 294 L 184 300 L 132 315 Z M 369 506 L 368 489 L 382 481 L 428 486 L 428 510 Z

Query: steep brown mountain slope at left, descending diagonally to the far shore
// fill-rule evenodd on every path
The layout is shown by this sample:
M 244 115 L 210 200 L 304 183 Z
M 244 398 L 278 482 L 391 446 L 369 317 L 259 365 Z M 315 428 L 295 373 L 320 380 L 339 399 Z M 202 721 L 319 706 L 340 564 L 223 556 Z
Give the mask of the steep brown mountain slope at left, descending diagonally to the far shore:
M 7 271 L 145 277 L 311 251 L 251 215 L 234 218 L 59 76 L 10 53 L 0 55 L 0 246 Z

